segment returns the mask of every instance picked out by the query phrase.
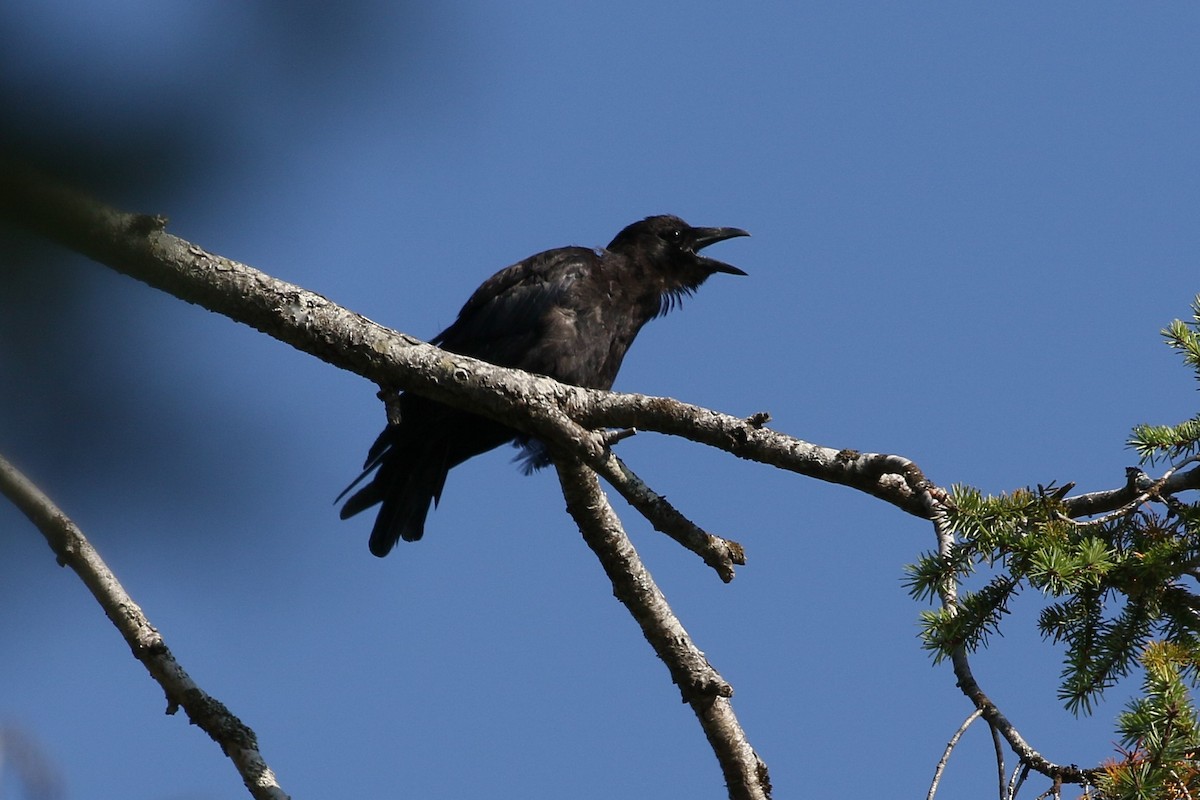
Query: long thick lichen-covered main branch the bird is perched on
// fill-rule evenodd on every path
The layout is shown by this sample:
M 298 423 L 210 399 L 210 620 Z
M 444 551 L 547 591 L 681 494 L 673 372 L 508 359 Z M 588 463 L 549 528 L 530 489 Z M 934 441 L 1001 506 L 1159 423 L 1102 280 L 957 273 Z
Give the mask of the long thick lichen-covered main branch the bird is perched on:
M 391 331 L 322 295 L 166 233 L 162 217 L 127 213 L 37 173 L 0 163 L 0 216 L 112 269 L 250 325 L 380 386 L 500 420 L 584 461 L 602 457 L 602 427 L 638 427 L 842 483 L 928 518 L 937 494 L 900 456 L 809 444 L 749 420 L 670 398 L 566 386 L 455 355 Z

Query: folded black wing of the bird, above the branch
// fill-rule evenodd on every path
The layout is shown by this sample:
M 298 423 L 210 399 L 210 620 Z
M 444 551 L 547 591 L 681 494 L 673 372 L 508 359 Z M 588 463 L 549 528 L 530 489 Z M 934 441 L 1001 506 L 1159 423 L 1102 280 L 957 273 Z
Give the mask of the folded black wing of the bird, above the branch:
M 560 247 L 530 255 L 484 282 L 458 319 L 433 343 L 504 367 L 545 372 L 526 363 L 530 349 L 562 309 L 570 288 L 599 261 L 587 247 Z

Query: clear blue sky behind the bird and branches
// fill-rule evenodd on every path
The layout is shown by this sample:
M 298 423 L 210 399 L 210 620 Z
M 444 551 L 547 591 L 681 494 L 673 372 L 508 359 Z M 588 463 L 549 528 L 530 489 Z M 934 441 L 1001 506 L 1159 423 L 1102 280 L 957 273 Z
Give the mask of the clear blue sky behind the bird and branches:
M 648 326 L 618 390 L 989 492 L 1117 486 L 1133 425 L 1195 411 L 1158 335 L 1200 290 L 1195 6 L 22 5 L 0 72 L 25 138 L 102 143 L 115 204 L 398 330 L 671 212 L 750 230 L 713 251 L 750 275 Z M 480 457 L 377 560 L 332 505 L 373 386 L 85 260 L 29 264 L 0 452 L 293 796 L 724 796 L 552 474 Z M 924 793 L 971 710 L 901 585 L 930 527 L 684 441 L 620 452 L 748 549 L 722 585 L 616 501 L 776 795 Z M 70 796 L 235 796 L 40 536 L 6 506 L 0 531 L 0 721 Z M 1127 692 L 1063 711 L 1038 607 L 978 676 L 1048 758 L 1094 764 Z M 940 796 L 990 792 L 990 750 L 971 730 Z

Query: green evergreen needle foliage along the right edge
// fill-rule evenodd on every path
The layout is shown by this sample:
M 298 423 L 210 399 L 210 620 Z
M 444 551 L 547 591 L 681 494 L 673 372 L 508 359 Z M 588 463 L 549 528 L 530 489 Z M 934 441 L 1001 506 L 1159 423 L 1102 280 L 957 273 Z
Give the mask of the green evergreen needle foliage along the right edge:
M 1200 297 L 1193 319 L 1163 331 L 1200 380 Z M 1200 461 L 1200 415 L 1174 426 L 1141 425 L 1129 446 L 1142 464 L 1174 474 Z M 1200 796 L 1200 723 L 1192 688 L 1200 672 L 1200 504 L 1141 481 L 1140 503 L 1094 519 L 1073 519 L 1055 486 L 984 495 L 956 486 L 947 519 L 955 541 L 907 569 L 935 661 L 972 651 L 998 633 L 1022 589 L 1051 602 L 1038 618 L 1044 638 L 1066 646 L 1058 697 L 1090 714 L 1104 691 L 1139 666 L 1140 696 L 1117 720 L 1118 757 L 1100 790 L 1121 799 Z M 983 587 L 964 582 L 983 572 Z M 978 579 L 977 579 L 978 582 Z

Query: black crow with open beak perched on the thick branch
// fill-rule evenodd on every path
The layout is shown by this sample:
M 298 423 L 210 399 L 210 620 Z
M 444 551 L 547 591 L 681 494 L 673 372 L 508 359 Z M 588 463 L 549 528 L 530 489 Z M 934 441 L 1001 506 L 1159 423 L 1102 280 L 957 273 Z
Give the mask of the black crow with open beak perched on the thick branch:
M 742 270 L 698 254 L 714 242 L 749 236 L 740 228 L 692 228 L 679 217 L 647 217 L 605 249 L 560 247 L 530 255 L 484 282 L 458 319 L 432 341 L 460 355 L 548 375 L 564 384 L 611 389 L 642 326 L 674 308 L 714 272 Z M 425 533 L 446 473 L 506 441 L 526 449 L 526 471 L 550 463 L 536 441 L 492 420 L 404 393 L 400 422 L 372 445 L 364 471 L 371 482 L 346 505 L 346 519 L 377 503 L 371 552 Z

